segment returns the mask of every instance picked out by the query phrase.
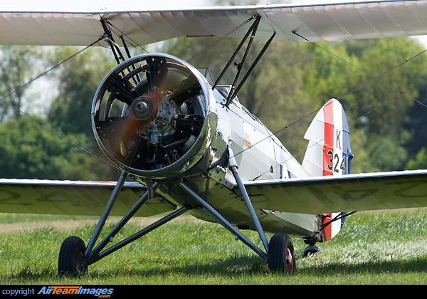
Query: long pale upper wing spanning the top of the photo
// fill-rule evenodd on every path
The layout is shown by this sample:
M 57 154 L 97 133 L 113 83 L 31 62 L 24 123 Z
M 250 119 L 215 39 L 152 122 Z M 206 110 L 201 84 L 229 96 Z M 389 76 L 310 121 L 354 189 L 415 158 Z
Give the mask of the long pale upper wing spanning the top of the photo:
M 258 38 L 291 43 L 427 34 L 427 0 L 352 4 L 221 6 L 172 11 L 11 12 L 0 11 L 0 43 L 87 46 L 104 32 L 100 19 L 133 46 L 179 36 L 244 36 L 238 28 L 263 18 Z M 237 28 L 237 29 L 236 29 Z M 300 38 L 293 32 L 304 38 Z

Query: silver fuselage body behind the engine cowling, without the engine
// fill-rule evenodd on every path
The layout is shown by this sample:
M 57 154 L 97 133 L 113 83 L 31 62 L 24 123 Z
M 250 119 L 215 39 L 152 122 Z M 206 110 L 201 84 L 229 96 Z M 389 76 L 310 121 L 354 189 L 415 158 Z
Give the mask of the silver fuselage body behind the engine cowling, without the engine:
M 214 100 L 211 101 L 211 105 L 215 107 L 211 107 L 211 112 L 215 113 L 213 117 L 217 117 L 216 136 L 206 150 L 206 158 L 201 159 L 195 166 L 198 169 L 197 172 L 203 175 L 186 177 L 186 184 L 231 224 L 240 229 L 254 229 L 241 194 L 233 188 L 236 181 L 230 169 L 224 165 L 209 169 L 209 166 L 219 159 L 227 147 L 233 151 L 243 182 L 254 179 L 308 177 L 309 175 L 280 140 L 239 103 L 238 98 L 234 98 L 226 107 L 228 89 L 229 86 L 223 85 L 212 91 Z M 161 188 L 159 192 L 179 206 L 194 204 L 191 198 L 178 187 Z M 257 210 L 256 213 L 263 229 L 272 233 L 284 232 L 290 235 L 312 236 L 313 231 L 317 229 L 316 215 L 268 210 Z M 214 222 L 214 219 L 201 210 L 191 210 L 189 214 Z

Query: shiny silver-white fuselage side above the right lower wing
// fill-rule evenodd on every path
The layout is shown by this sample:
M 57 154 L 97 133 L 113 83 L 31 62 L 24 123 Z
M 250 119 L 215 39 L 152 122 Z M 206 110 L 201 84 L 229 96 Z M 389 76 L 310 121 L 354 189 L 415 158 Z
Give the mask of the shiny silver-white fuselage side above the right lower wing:
M 218 90 L 214 90 L 214 95 L 218 129 L 233 150 L 243 181 L 309 177 L 280 140 L 237 98 L 226 107 L 225 98 Z

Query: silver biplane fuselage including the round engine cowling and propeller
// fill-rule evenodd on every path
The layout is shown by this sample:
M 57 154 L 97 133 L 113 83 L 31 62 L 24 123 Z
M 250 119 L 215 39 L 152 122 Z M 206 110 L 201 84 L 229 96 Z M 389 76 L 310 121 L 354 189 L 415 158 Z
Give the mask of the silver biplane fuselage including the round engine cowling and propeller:
M 111 70 L 97 89 L 93 129 L 112 162 L 142 184 L 159 182 L 157 193 L 167 201 L 214 221 L 179 187 L 184 182 L 231 224 L 254 229 L 228 159 L 236 161 L 243 182 L 309 175 L 238 98 L 227 102 L 229 88 L 212 88 L 199 70 L 174 56 L 135 56 Z M 117 104 L 124 105 L 121 115 L 113 114 Z M 225 154 L 233 157 L 226 160 Z M 272 233 L 312 236 L 317 230 L 316 215 L 255 214 Z

